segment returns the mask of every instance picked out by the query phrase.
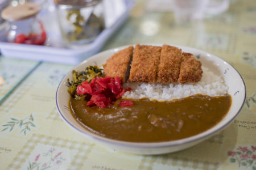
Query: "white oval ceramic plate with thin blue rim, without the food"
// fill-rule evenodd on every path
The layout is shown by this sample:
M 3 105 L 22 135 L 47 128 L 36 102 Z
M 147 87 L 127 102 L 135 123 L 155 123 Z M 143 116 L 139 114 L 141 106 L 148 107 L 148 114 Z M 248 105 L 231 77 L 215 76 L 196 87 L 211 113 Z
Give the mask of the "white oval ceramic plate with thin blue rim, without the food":
M 161 44 L 158 45 L 162 46 Z M 183 150 L 184 148 L 196 145 L 197 143 L 211 137 L 213 134 L 222 130 L 223 128 L 225 128 L 225 126 L 232 122 L 232 120 L 241 111 L 246 97 L 245 83 L 243 82 L 243 79 L 241 75 L 237 72 L 237 70 L 234 69 L 234 67 L 232 67 L 228 62 L 224 61 L 223 59 L 214 56 L 213 54 L 210 54 L 208 52 L 204 52 L 203 50 L 180 45 L 174 46 L 182 49 L 183 52 L 192 53 L 197 56 L 197 59 L 199 59 L 205 67 L 208 67 L 210 71 L 213 71 L 217 75 L 223 76 L 226 85 L 229 86 L 228 93 L 232 96 L 233 99 L 232 106 L 226 117 L 213 128 L 189 138 L 169 142 L 123 142 L 101 137 L 100 135 L 94 134 L 89 130 L 86 130 L 75 120 L 75 118 L 73 118 L 72 114 L 69 112 L 68 101 L 70 95 L 67 92 L 67 86 L 65 86 L 65 82 L 68 78 L 72 79 L 71 71 L 69 71 L 69 73 L 65 75 L 63 80 L 61 80 L 56 92 L 56 104 L 57 108 L 59 109 L 60 116 L 69 126 L 71 126 L 72 129 L 79 131 L 86 138 L 91 138 L 94 141 L 100 142 L 105 146 L 108 146 L 115 150 L 130 152 L 133 154 L 165 154 L 169 152 L 179 151 Z M 118 50 L 126 47 L 127 46 L 122 46 L 119 48 L 110 49 L 106 50 L 105 52 L 98 53 L 81 62 L 74 69 L 81 71 L 89 65 L 100 66 L 101 64 L 106 62 L 106 59 L 111 57 Z

